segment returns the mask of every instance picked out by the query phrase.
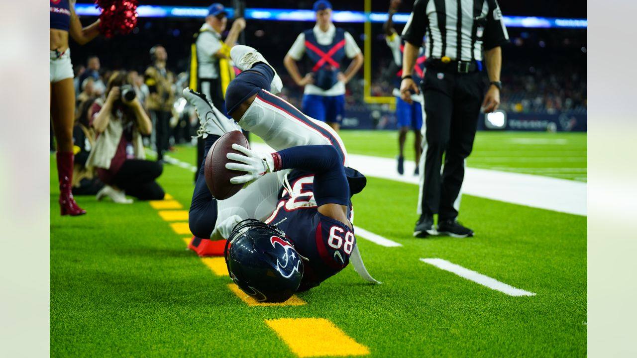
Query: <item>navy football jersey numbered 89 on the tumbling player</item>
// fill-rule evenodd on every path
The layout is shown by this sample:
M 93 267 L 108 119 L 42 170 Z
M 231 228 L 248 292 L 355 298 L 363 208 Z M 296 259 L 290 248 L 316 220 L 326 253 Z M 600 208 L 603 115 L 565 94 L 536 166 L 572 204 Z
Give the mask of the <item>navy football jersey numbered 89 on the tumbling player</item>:
M 349 264 L 356 238 L 347 225 L 318 212 L 312 192 L 313 174 L 295 170 L 288 175 L 288 181 L 292 192 L 282 189 L 276 209 L 266 224 L 283 230 L 296 251 L 308 259 L 303 261 L 303 280 L 299 287 L 299 290 L 308 290 Z M 350 220 L 351 208 L 350 202 Z

